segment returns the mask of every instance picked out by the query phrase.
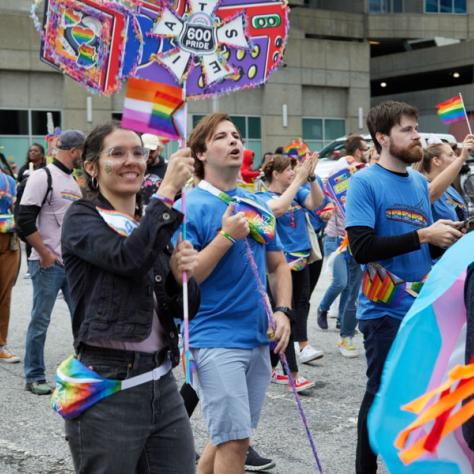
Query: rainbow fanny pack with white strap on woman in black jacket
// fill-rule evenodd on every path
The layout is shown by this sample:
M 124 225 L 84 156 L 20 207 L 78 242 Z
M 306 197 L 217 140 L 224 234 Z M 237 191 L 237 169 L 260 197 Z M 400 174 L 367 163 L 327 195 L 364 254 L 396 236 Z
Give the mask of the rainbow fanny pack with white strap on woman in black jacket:
M 144 374 L 126 380 L 113 380 L 102 377 L 74 356 L 69 356 L 61 362 L 56 371 L 56 388 L 51 396 L 51 408 L 66 420 L 70 420 L 103 398 L 152 380 L 159 380 L 170 370 L 171 362 L 167 360 Z

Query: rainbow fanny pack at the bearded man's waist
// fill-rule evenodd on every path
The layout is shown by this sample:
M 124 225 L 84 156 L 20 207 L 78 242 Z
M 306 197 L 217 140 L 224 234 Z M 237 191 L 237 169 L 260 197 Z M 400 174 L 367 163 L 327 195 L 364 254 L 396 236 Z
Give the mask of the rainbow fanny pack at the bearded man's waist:
M 416 298 L 427 277 L 425 275 L 422 281 L 404 281 L 382 265 L 369 263 L 362 278 L 362 293 L 374 303 L 395 306 L 404 293 Z

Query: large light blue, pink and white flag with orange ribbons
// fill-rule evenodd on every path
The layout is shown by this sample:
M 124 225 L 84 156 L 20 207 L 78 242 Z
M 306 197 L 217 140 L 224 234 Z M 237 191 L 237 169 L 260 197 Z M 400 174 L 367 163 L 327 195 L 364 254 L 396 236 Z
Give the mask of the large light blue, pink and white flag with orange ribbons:
M 433 267 L 387 357 L 368 428 L 389 472 L 473 473 L 461 428 L 474 416 L 463 298 L 473 246 L 467 234 Z

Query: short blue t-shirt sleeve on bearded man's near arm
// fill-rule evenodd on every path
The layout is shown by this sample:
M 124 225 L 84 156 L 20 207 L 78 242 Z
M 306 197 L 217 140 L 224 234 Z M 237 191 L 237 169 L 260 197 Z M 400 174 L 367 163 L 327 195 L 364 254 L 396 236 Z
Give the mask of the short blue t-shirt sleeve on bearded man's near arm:
M 363 178 L 363 177 L 362 177 Z M 372 187 L 359 175 L 351 178 L 347 190 L 345 227 L 375 228 L 375 200 Z

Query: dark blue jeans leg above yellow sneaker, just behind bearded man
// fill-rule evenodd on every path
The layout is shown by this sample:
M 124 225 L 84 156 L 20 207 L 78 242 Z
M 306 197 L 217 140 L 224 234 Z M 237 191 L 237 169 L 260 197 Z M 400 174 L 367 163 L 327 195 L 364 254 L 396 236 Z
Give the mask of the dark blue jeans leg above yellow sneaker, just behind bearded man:
M 344 258 L 346 262 L 347 285 L 341 295 L 339 317 L 341 320 L 341 337 L 353 337 L 357 326 L 356 302 L 362 283 L 362 269 L 354 258 L 348 253 Z

